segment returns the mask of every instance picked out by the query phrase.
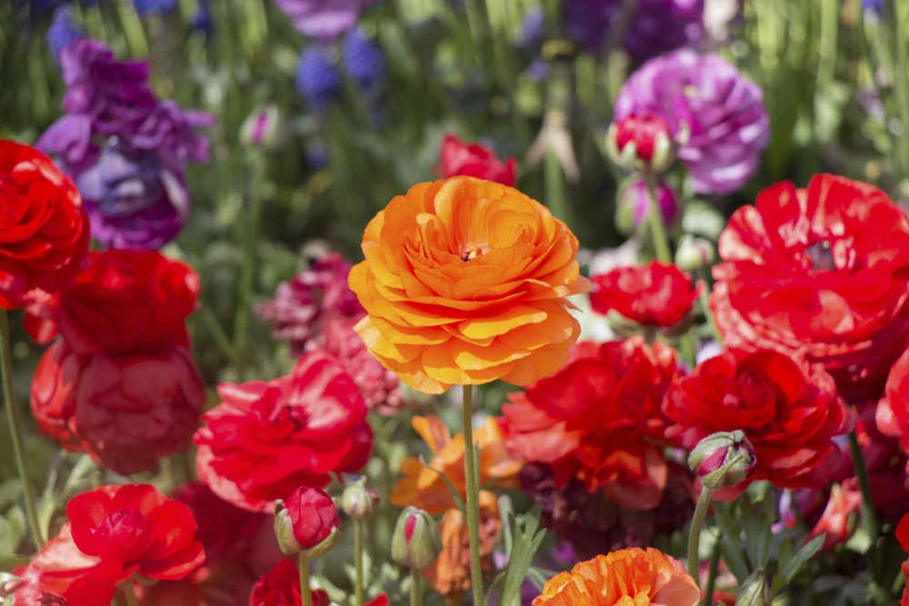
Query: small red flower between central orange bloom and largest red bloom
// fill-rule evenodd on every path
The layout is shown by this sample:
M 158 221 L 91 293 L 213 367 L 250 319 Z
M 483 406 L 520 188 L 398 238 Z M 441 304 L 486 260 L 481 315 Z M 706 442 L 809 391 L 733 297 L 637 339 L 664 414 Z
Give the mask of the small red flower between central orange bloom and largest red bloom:
M 700 289 L 692 288 L 691 276 L 672 263 L 617 267 L 594 275 L 590 304 L 594 312 L 614 309 L 629 320 L 655 326 L 674 326 L 691 312 Z

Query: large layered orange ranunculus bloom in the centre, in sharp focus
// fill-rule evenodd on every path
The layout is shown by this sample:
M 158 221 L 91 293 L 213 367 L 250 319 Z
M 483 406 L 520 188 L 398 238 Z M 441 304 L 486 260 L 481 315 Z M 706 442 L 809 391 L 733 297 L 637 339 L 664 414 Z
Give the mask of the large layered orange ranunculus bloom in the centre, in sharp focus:
M 584 293 L 574 234 L 542 204 L 473 177 L 416 184 L 366 225 L 351 290 L 355 327 L 421 392 L 503 379 L 526 385 L 568 360 Z

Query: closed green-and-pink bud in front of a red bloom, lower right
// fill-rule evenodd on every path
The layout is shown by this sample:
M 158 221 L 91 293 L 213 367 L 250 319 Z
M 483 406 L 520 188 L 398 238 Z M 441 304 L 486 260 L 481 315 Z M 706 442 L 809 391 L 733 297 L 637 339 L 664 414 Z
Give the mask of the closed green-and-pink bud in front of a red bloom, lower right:
M 716 432 L 697 443 L 688 464 L 700 476 L 701 484 L 719 489 L 735 486 L 748 477 L 757 465 L 754 447 L 738 430 Z

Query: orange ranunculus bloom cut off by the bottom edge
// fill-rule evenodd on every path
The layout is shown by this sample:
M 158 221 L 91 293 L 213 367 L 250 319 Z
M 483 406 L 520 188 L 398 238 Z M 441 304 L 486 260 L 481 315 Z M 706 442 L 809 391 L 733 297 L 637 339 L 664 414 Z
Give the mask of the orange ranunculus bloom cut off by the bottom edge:
M 648 547 L 613 551 L 559 572 L 534 606 L 697 606 L 701 591 L 672 556 Z

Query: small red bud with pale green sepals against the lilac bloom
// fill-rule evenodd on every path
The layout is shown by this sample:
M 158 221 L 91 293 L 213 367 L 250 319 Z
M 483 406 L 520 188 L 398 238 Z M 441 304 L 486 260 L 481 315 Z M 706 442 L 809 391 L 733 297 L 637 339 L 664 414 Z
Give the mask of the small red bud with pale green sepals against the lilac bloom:
M 615 164 L 628 170 L 649 164 L 655 171 L 664 171 L 673 160 L 669 126 L 653 114 L 632 114 L 610 124 L 606 149 Z

